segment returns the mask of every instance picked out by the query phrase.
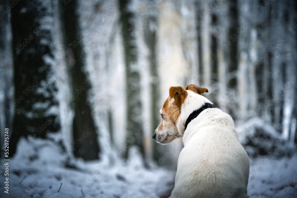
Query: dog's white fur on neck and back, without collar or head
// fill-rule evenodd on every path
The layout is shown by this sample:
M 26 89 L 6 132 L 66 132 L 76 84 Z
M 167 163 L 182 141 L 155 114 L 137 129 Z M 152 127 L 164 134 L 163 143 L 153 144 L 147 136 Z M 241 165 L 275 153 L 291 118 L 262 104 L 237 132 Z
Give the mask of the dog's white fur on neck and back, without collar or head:
M 183 136 L 170 198 L 247 198 L 249 157 L 233 119 L 218 108 L 203 110 L 184 130 L 188 116 L 207 98 L 187 91 L 176 126 Z M 227 194 L 228 193 L 228 194 Z

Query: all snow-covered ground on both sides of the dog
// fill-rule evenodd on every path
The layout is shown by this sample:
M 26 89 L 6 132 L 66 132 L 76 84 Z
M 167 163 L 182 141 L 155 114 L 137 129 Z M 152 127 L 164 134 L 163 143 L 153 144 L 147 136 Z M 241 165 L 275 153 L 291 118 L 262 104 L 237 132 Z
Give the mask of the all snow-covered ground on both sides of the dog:
M 22 139 L 19 145 L 25 142 Z M 155 166 L 146 169 L 137 151 L 132 149 L 133 152 L 127 163 L 115 162 L 107 167 L 96 161 L 69 158 L 63 161 L 61 156 L 65 153 L 56 143 L 35 139 L 9 161 L 9 194 L 4 193 L 1 170 L 0 197 L 168 197 L 175 172 Z M 281 159 L 273 156 L 250 159 L 249 197 L 293 198 L 297 197 L 296 186 L 296 154 Z

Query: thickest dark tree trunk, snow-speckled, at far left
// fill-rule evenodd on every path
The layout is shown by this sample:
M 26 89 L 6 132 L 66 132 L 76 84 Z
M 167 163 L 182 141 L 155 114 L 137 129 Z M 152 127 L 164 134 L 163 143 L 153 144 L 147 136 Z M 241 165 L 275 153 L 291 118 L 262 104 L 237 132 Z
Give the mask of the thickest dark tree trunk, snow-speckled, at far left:
M 36 134 L 45 138 L 47 132 L 56 132 L 60 127 L 56 119 L 57 88 L 50 78 L 52 65 L 45 61 L 53 58 L 50 6 L 45 1 L 32 0 L 19 1 L 11 9 L 15 101 L 8 111 L 15 111 L 15 116 L 10 155 L 16 152 L 21 136 Z

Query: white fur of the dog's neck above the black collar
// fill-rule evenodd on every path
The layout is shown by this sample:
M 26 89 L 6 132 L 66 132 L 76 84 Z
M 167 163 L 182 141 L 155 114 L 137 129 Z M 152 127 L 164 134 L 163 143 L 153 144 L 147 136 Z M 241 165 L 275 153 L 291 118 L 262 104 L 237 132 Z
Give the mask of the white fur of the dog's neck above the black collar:
M 187 122 L 187 119 L 193 111 L 198 110 L 200 107 L 202 107 L 206 103 L 212 104 L 206 97 L 201 96 L 199 94 L 196 94 L 192 91 L 187 91 L 188 96 L 184 103 L 181 105 L 181 113 L 177 120 L 177 129 L 178 133 L 181 136 L 184 136 L 185 132 L 185 125 Z

